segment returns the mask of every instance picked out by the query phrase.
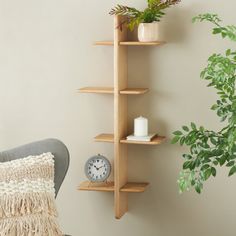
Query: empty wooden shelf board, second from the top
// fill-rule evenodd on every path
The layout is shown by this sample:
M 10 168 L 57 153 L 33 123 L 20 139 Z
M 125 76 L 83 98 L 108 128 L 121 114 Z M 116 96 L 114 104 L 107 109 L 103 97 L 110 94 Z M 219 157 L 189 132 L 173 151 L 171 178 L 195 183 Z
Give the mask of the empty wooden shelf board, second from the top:
M 148 92 L 148 88 L 126 88 L 120 91 L 124 95 L 139 95 Z M 114 88 L 110 87 L 85 87 L 78 90 L 80 93 L 114 94 Z

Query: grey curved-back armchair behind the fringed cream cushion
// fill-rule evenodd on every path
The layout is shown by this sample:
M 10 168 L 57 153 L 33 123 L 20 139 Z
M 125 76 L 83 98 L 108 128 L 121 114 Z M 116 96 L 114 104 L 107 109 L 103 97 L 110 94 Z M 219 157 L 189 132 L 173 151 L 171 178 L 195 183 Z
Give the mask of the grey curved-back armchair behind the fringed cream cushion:
M 46 139 L 26 144 L 11 150 L 0 152 L 0 162 L 11 161 L 29 155 L 38 155 L 45 152 L 51 152 L 55 156 L 54 181 L 57 195 L 61 184 L 66 176 L 70 162 L 70 155 L 68 149 L 61 141 L 57 139 Z

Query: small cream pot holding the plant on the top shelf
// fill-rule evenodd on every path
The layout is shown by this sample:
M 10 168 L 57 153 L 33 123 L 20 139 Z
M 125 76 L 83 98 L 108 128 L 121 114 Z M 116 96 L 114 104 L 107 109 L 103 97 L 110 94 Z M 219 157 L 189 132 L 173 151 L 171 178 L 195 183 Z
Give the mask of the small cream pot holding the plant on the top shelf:
M 158 22 L 140 23 L 138 26 L 138 39 L 140 42 L 158 41 Z

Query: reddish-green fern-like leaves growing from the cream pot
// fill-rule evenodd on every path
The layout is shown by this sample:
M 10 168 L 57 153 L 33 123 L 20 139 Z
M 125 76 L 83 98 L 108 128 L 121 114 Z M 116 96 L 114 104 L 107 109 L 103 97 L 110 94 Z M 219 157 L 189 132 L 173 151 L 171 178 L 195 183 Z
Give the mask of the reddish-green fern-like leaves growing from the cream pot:
M 180 1 L 181 0 L 147 0 L 148 6 L 143 11 L 118 4 L 109 14 L 126 16 L 126 19 L 122 24 L 126 23 L 128 28 L 132 31 L 134 27 L 140 23 L 160 21 L 160 19 L 165 15 L 164 10 Z

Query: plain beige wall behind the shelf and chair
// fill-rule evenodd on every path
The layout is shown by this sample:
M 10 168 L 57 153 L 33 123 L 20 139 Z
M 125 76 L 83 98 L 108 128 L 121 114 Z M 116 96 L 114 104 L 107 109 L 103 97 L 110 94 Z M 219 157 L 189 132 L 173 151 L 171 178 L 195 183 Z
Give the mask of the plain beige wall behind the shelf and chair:
M 112 48 L 94 47 L 112 38 L 116 3 L 144 6 L 144 0 L 0 0 L 0 146 L 55 137 L 71 153 L 71 166 L 57 203 L 64 230 L 73 236 L 234 236 L 236 177 L 221 170 L 202 195 L 178 194 L 176 179 L 184 148 L 130 146 L 130 180 L 149 181 L 129 197 L 130 211 L 114 219 L 113 195 L 78 192 L 88 157 L 113 158 L 111 144 L 92 138 L 113 130 L 111 96 L 78 95 L 87 85 L 112 85 Z M 168 11 L 160 48 L 130 48 L 129 82 L 151 92 L 129 99 L 132 119 L 144 115 L 151 128 L 171 137 L 183 123 L 219 128 L 209 110 L 216 96 L 199 79 L 207 57 L 230 43 L 210 34 L 208 24 L 191 24 L 202 12 L 235 23 L 235 0 L 183 1 Z M 231 44 L 232 45 L 232 44 Z

